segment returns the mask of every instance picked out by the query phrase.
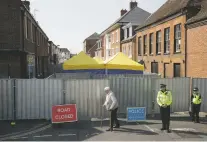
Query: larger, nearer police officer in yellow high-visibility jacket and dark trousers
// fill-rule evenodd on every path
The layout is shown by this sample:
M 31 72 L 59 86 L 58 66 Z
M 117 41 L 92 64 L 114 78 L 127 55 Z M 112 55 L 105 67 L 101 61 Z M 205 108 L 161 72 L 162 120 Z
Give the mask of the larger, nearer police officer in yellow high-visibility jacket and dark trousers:
M 165 84 L 160 84 L 160 91 L 157 94 L 157 103 L 160 106 L 160 115 L 162 119 L 161 130 L 167 130 L 170 133 L 170 105 L 172 104 L 172 94 L 166 89 Z

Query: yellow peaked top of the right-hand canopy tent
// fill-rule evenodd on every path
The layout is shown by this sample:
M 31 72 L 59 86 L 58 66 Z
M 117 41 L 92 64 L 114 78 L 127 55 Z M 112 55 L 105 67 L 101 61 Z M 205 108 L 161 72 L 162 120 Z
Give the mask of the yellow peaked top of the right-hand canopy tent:
M 105 62 L 106 69 L 137 70 L 144 71 L 144 66 L 131 60 L 125 54 L 119 52 Z

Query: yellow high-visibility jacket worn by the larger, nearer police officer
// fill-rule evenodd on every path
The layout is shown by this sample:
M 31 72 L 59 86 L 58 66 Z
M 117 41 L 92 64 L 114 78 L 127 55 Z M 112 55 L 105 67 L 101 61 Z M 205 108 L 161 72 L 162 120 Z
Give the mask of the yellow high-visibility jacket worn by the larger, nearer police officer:
M 166 105 L 169 106 L 172 104 L 172 94 L 170 91 L 159 91 L 157 94 L 157 103 L 159 106 Z

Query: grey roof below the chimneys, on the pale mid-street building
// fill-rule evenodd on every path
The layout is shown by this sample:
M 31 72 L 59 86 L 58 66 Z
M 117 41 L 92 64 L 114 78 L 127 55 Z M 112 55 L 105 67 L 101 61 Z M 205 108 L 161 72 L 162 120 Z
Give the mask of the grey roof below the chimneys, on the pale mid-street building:
M 113 24 L 111 24 L 102 34 L 104 34 L 109 28 L 118 23 L 136 23 L 137 25 L 143 24 L 143 22 L 150 16 L 150 13 L 139 8 L 135 7 L 132 10 L 125 13 L 119 19 L 117 19 Z

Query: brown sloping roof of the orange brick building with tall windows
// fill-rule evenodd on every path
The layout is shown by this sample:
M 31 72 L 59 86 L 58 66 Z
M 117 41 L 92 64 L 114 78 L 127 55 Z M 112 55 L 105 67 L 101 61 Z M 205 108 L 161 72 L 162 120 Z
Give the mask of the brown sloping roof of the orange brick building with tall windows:
M 186 8 L 191 0 L 167 0 L 156 12 L 147 18 L 144 24 L 137 29 L 147 27 L 153 23 L 156 23 L 164 18 L 182 12 Z M 136 29 L 136 30 L 137 30 Z

